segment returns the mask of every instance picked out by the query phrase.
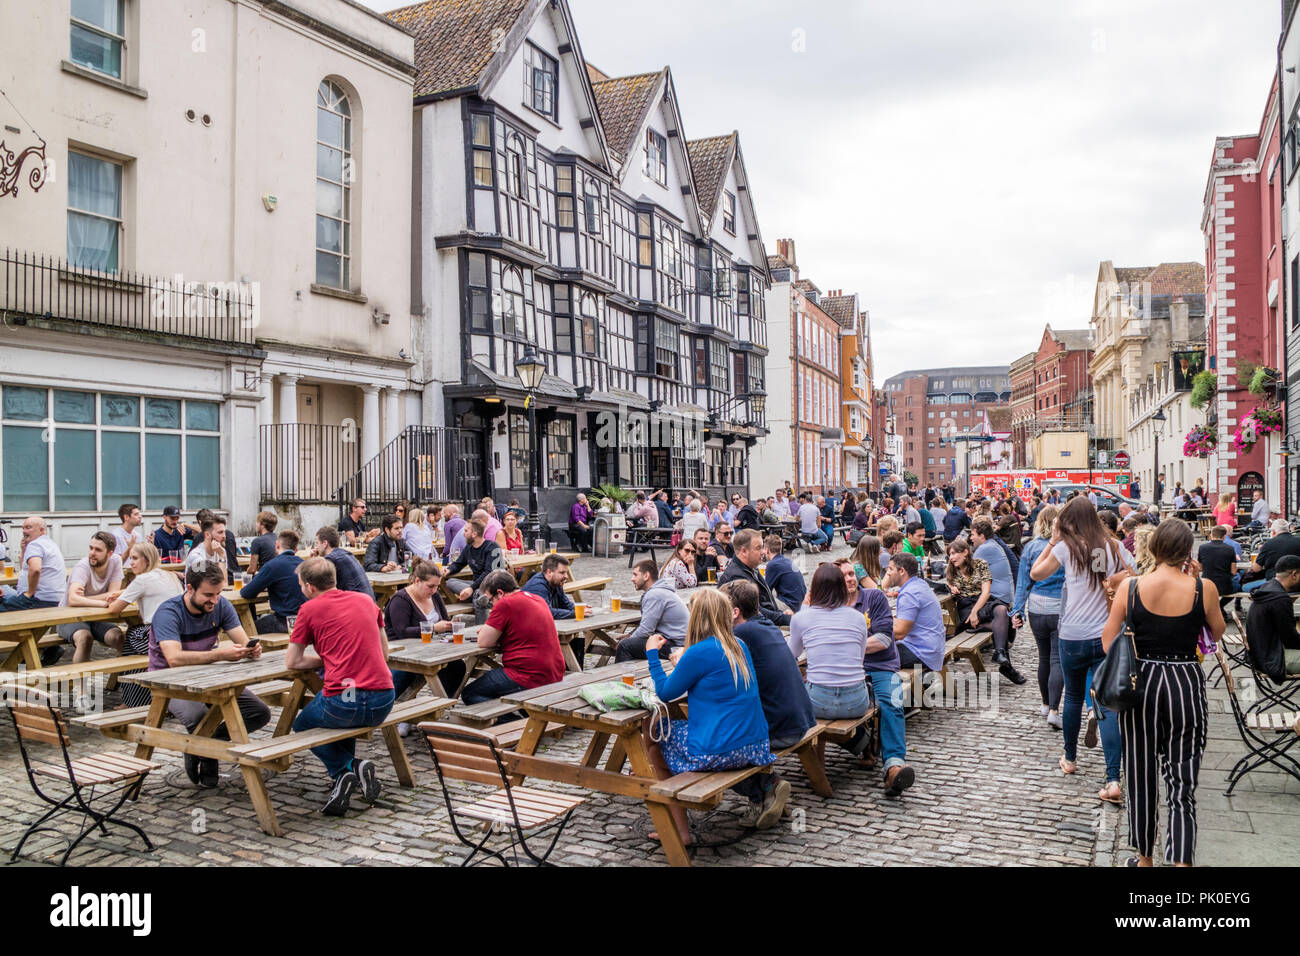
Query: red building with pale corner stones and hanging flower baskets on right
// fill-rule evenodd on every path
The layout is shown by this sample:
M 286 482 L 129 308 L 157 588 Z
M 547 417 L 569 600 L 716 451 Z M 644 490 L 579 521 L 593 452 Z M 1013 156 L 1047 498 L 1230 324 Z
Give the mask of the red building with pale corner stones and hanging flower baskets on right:
M 1279 369 L 1283 362 L 1282 191 L 1278 86 L 1274 79 L 1257 133 L 1219 137 L 1205 185 L 1201 232 L 1205 235 L 1206 368 L 1218 375 L 1218 392 L 1208 410 L 1218 444 L 1209 459 L 1212 493 L 1239 492 L 1252 473 L 1265 480 L 1265 498 L 1274 511 L 1295 499 L 1287 494 L 1283 434 L 1262 436 L 1238 453 L 1232 433 L 1257 407 L 1275 407 L 1277 394 L 1249 392 L 1258 367 Z M 1300 464 L 1300 462 L 1297 462 Z M 1239 505 L 1247 505 L 1242 496 Z

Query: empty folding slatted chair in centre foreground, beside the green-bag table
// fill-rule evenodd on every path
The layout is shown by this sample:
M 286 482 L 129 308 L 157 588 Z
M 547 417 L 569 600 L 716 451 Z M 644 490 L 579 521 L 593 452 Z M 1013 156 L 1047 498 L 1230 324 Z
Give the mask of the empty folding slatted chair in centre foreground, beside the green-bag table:
M 433 754 L 433 766 L 438 771 L 438 783 L 442 784 L 442 796 L 447 801 L 447 814 L 451 817 L 451 829 L 456 838 L 469 847 L 469 856 L 462 861 L 462 866 L 469 866 L 471 861 L 480 853 L 497 857 L 502 866 L 510 866 L 500 852 L 485 849 L 485 844 L 491 839 L 497 826 L 507 827 L 510 834 L 511 856 L 519 864 L 515 834 L 519 834 L 517 847 L 523 847 L 524 853 L 538 866 L 554 866 L 547 858 L 559 843 L 560 834 L 568 825 L 573 810 L 582 803 L 582 797 L 564 796 L 542 790 L 529 790 L 525 787 L 512 787 L 506 765 L 500 760 L 500 750 L 497 749 L 497 740 L 490 734 L 463 727 L 455 723 L 421 723 L 420 730 L 425 740 L 429 741 L 429 752 Z M 467 806 L 454 806 L 451 791 L 447 790 L 447 778 L 454 780 L 468 780 L 471 783 L 500 784 L 491 796 L 484 797 Z M 469 817 L 488 823 L 488 832 L 474 843 L 460 830 L 456 816 Z M 555 830 L 550 845 L 538 856 L 528 845 L 525 831 L 533 831 L 533 838 Z

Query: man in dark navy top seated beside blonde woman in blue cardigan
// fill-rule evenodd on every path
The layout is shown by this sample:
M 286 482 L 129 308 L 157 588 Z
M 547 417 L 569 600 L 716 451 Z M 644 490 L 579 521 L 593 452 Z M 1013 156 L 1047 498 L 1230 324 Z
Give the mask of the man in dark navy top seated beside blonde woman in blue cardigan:
M 794 747 L 816 723 L 812 701 L 803 688 L 800 666 L 785 644 L 780 628 L 764 618 L 759 609 L 758 587 L 737 579 L 720 591 L 731 598 L 736 639 L 749 648 L 758 680 L 758 696 L 767 718 L 767 732 L 774 753 Z M 781 821 L 790 799 L 790 784 L 779 774 L 755 774 L 732 790 L 749 797 L 741 814 L 741 826 L 766 830 Z

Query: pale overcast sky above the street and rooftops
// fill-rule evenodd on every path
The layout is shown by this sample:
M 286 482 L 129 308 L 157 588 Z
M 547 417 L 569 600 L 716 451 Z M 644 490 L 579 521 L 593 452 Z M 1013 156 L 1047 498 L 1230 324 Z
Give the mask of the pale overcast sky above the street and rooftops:
M 376 9 L 400 5 L 368 0 Z M 858 291 L 879 385 L 1086 328 L 1097 265 L 1202 261 L 1217 135 L 1258 130 L 1278 0 L 569 0 L 610 75 L 738 129 L 770 251 Z

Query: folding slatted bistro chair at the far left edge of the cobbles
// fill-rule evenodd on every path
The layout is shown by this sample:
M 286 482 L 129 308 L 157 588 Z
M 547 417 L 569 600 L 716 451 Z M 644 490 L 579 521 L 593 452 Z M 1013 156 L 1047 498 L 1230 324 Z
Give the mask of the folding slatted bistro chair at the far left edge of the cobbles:
M 68 753 L 68 726 L 62 715 L 55 709 L 53 698 L 48 693 L 20 684 L 8 684 L 0 689 L 3 689 L 4 704 L 9 709 L 9 717 L 13 718 L 13 727 L 18 735 L 18 749 L 22 752 L 22 763 L 27 770 L 27 780 L 31 783 L 31 788 L 36 796 L 51 806 L 48 812 L 27 827 L 22 839 L 18 840 L 18 845 L 13 848 L 13 855 L 9 857 L 10 862 L 18 858 L 22 844 L 32 834 L 42 831 L 58 832 L 56 827 L 44 825 L 60 813 L 79 812 L 82 814 L 81 831 L 69 843 L 68 851 L 58 861 L 60 866 L 66 865 L 68 857 L 72 856 L 73 851 L 77 849 L 81 842 L 95 827 L 99 827 L 100 832 L 108 836 L 105 823 L 134 830 L 144 840 L 146 849 L 153 849 L 153 844 L 143 830 L 134 823 L 113 819 L 113 814 L 122 808 L 127 797 L 139 792 L 146 775 L 151 770 L 157 770 L 159 765 L 124 753 L 98 753 L 73 760 Z M 31 756 L 27 753 L 29 743 L 58 747 L 62 753 L 62 762 L 32 763 Z M 46 793 L 38 783 L 38 778 L 42 777 L 64 780 L 70 784 L 72 791 L 62 799 L 58 799 L 57 795 Z M 96 795 L 96 788 L 107 790 L 101 790 Z M 112 803 L 113 797 L 116 797 L 116 803 Z M 112 806 L 108 810 L 100 810 L 94 806 L 96 803 L 101 805 L 112 803 Z

